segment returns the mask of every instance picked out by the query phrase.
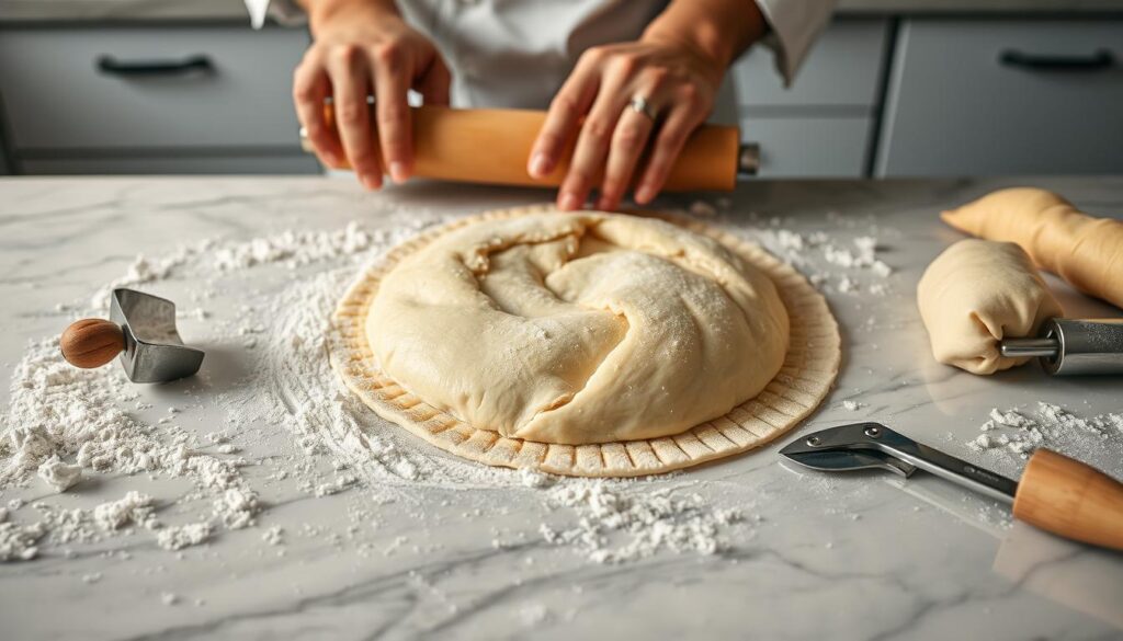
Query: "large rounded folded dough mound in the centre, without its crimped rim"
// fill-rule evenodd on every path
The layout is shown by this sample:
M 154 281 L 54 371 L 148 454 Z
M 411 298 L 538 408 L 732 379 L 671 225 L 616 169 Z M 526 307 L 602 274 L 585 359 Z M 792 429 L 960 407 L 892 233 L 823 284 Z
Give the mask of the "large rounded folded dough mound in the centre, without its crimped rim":
M 767 275 L 654 219 L 535 213 L 403 258 L 366 317 L 378 366 L 480 429 L 547 443 L 678 434 L 776 376 L 788 317 Z

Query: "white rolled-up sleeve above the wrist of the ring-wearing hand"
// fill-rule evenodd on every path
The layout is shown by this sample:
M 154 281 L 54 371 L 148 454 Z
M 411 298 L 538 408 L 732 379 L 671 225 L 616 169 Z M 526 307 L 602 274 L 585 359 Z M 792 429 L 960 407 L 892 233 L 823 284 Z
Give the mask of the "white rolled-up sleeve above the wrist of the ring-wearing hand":
M 811 45 L 830 21 L 834 0 L 756 0 L 772 27 L 761 40 L 775 54 L 776 71 L 791 85 Z

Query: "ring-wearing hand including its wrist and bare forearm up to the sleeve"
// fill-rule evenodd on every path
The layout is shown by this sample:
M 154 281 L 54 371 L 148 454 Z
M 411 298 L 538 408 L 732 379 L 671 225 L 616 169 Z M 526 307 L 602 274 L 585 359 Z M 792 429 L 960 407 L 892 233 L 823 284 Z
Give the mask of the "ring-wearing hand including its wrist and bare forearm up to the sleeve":
M 550 103 L 527 171 L 553 172 L 576 137 L 559 209 L 581 208 L 599 189 L 597 209 L 613 210 L 633 182 L 636 201 L 650 202 L 713 109 L 730 62 L 764 30 L 752 2 L 678 0 L 640 40 L 587 49 Z

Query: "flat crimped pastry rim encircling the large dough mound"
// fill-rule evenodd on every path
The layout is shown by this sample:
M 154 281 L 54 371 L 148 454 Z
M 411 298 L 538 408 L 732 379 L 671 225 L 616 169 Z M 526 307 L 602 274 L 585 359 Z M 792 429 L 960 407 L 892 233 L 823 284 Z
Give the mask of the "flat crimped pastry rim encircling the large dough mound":
M 514 223 L 522 225 L 524 220 L 533 220 L 541 211 L 535 208 L 520 208 L 456 221 L 411 239 L 362 274 L 339 303 L 334 321 L 335 332 L 332 340 L 329 341 L 331 363 L 347 386 L 383 418 L 464 458 L 493 466 L 529 467 L 554 474 L 594 477 L 640 476 L 670 471 L 754 449 L 798 424 L 814 411 L 830 391 L 841 359 L 841 339 L 825 300 L 789 265 L 779 263 L 758 246 L 738 240 L 729 233 L 704 225 L 678 221 L 685 228 L 706 237 L 707 242 L 715 240 L 721 242 L 723 251 L 736 256 L 731 257 L 731 260 L 745 262 L 754 272 L 759 273 L 757 277 L 768 278 L 786 310 L 786 317 L 789 319 L 786 330 L 788 348 L 779 372 L 759 395 L 733 408 L 724 415 L 699 423 L 682 433 L 573 446 L 565 442 L 573 440 L 572 438 L 563 439 L 562 443 L 536 441 L 476 427 L 408 392 L 403 383 L 399 383 L 382 369 L 381 359 L 369 342 L 372 332 L 377 331 L 378 320 L 369 318 L 369 314 L 380 310 L 383 284 L 389 282 L 393 286 L 393 277 L 399 269 L 403 265 L 409 266 L 414 257 L 423 258 L 430 244 L 438 244 L 435 247 L 439 250 L 442 248 L 439 245 L 442 238 L 454 240 L 457 238 L 448 235 L 460 233 L 462 229 L 465 233 L 471 233 L 475 223 L 481 220 L 486 222 L 510 219 Z M 483 236 L 487 237 L 487 233 Z M 648 242 L 650 241 L 649 239 Z M 455 267 L 453 269 L 456 271 Z M 459 269 L 463 269 L 463 266 Z M 414 275 L 409 269 L 405 271 L 405 275 L 414 276 L 414 280 L 424 277 L 423 274 Z M 426 291 L 430 289 L 431 283 Z M 747 285 L 746 289 L 751 292 L 754 287 Z M 395 295 L 401 294 L 395 293 Z M 422 297 L 428 294 L 421 294 Z M 417 303 L 410 300 L 390 309 L 396 310 L 396 313 L 405 313 L 402 311 L 404 308 L 416 305 Z M 777 318 L 776 321 L 780 319 Z M 411 329 L 418 322 L 421 321 L 405 323 L 400 329 L 403 332 L 401 336 L 412 337 L 411 331 L 420 335 L 421 330 Z M 391 335 L 391 338 L 395 336 L 393 330 Z M 419 341 L 419 346 L 422 349 L 430 349 L 431 338 Z M 381 338 L 376 337 L 375 340 Z M 462 337 L 460 340 L 468 340 L 468 337 Z M 481 341 L 486 345 L 486 340 Z M 393 347 L 393 344 L 390 346 Z M 751 352 L 751 350 L 752 346 L 745 345 L 739 351 Z M 424 354 L 416 352 L 412 356 L 417 363 L 424 364 L 416 365 L 416 369 L 424 372 L 432 368 L 424 360 Z M 383 358 L 386 358 L 385 354 Z M 678 365 L 677 359 L 670 363 Z M 495 367 L 496 365 L 493 365 L 487 369 Z M 410 369 L 405 372 L 409 373 Z M 665 388 L 667 385 L 660 386 Z M 494 391 L 484 386 L 480 393 L 489 392 Z M 672 395 L 665 400 L 673 403 L 675 397 Z M 634 402 L 642 401 L 637 399 Z M 651 403 L 658 409 L 655 401 Z M 642 419 L 646 414 L 638 413 L 637 416 Z M 626 427 L 629 424 L 627 421 L 623 423 Z M 687 422 L 690 423 L 693 421 Z M 577 427 L 583 429 L 579 422 Z M 500 430 L 502 431 L 502 428 Z

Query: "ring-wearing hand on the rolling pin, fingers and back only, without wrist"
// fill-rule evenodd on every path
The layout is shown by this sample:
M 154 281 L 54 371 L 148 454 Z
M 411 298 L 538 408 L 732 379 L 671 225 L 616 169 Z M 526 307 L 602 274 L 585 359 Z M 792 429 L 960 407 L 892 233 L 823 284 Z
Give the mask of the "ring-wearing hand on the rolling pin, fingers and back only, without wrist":
M 724 71 L 701 52 L 669 39 L 590 48 L 550 103 L 530 154 L 530 175 L 554 171 L 579 129 L 558 209 L 581 209 L 590 191 L 600 187 L 596 208 L 614 210 L 636 175 L 636 202 L 651 202 L 686 138 L 713 109 Z M 632 108 L 634 98 L 647 102 L 647 113 Z M 650 156 L 637 174 L 652 137 Z

